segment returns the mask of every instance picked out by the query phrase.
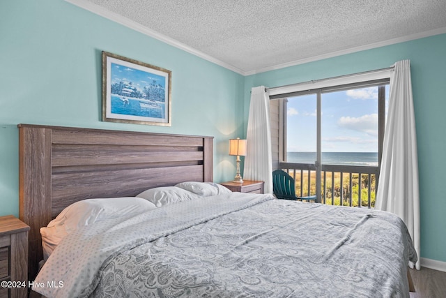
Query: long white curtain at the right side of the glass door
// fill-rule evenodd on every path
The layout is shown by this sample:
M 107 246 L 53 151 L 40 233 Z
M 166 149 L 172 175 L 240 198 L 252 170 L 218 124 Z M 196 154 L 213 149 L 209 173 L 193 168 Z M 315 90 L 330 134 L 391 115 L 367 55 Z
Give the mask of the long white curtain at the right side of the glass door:
M 406 223 L 418 255 L 415 267 L 420 269 L 420 193 L 409 60 L 398 61 L 390 76 L 389 111 L 375 208 L 397 214 Z

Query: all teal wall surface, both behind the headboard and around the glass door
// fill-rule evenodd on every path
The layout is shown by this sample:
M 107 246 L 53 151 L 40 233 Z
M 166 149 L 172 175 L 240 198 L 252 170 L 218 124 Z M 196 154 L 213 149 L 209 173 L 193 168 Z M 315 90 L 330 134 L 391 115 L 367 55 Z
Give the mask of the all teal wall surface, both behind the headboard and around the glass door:
M 172 126 L 101 121 L 101 51 L 172 71 Z M 215 181 L 233 178 L 227 140 L 246 132 L 251 87 L 412 64 L 422 257 L 446 262 L 446 34 L 243 77 L 63 0 L 0 4 L 0 216 L 18 216 L 17 124 L 213 135 Z

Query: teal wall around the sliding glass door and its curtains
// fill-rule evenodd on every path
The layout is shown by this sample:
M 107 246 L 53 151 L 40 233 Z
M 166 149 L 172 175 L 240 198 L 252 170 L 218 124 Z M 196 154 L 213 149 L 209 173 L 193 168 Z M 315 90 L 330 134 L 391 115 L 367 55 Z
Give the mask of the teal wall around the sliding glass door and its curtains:
M 278 87 L 359 73 L 386 68 L 403 59 L 410 59 L 415 107 L 421 256 L 446 262 L 446 34 L 245 77 L 245 121 L 251 87 Z

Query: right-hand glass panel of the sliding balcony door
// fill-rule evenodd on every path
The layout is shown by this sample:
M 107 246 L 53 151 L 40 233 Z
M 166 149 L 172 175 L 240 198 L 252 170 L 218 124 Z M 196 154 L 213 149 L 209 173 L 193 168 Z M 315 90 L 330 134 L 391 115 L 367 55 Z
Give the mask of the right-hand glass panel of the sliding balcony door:
M 325 203 L 367 206 L 376 182 L 355 167 L 378 166 L 378 87 L 323 93 L 321 114 Z

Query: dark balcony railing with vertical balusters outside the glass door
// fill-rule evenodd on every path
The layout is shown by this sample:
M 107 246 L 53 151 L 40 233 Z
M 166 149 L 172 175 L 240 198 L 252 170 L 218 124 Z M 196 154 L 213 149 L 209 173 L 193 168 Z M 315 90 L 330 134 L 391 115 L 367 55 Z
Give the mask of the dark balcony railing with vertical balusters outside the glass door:
M 317 195 L 319 202 L 338 206 L 375 207 L 377 166 L 321 165 L 321 187 L 316 189 L 316 166 L 280 163 L 295 180 L 296 195 Z

